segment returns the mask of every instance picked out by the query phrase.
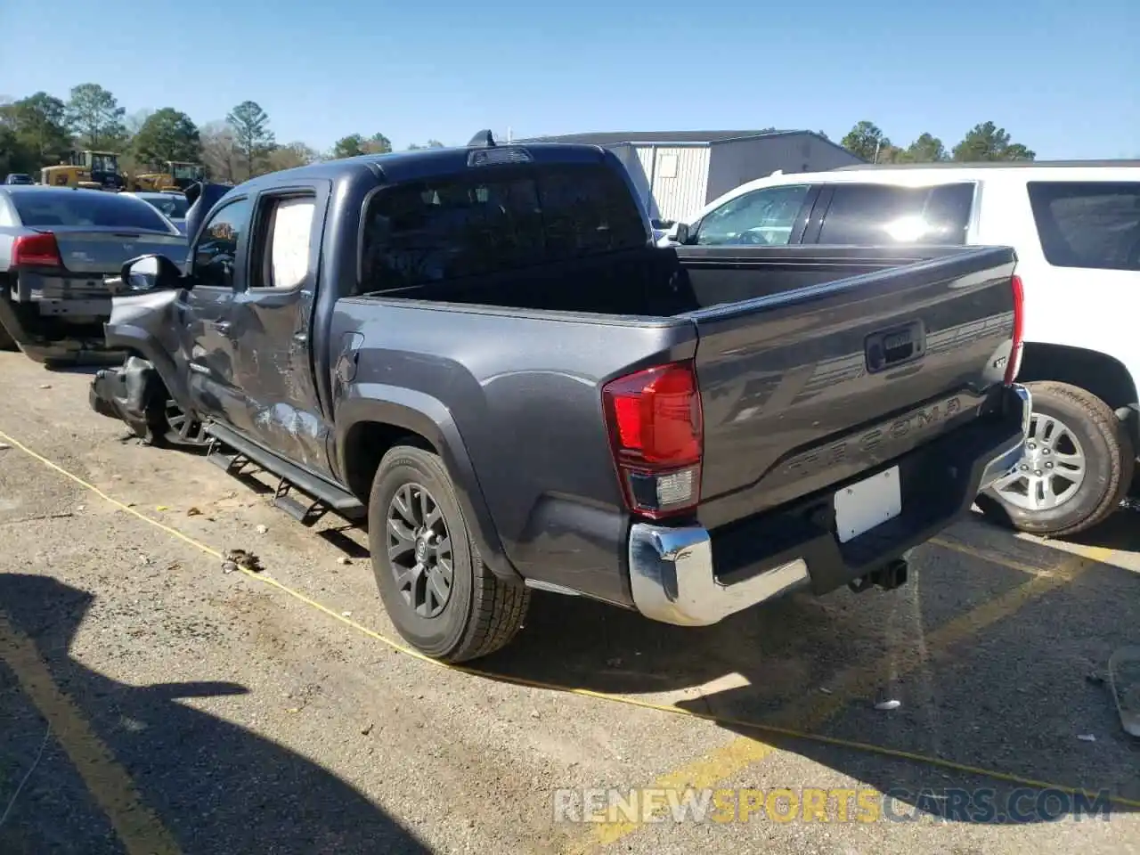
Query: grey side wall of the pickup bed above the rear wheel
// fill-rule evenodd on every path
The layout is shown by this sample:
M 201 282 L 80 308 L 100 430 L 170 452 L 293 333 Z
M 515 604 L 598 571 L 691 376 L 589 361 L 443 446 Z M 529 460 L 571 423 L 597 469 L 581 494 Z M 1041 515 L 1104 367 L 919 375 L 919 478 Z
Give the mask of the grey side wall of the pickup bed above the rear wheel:
M 628 516 L 600 389 L 627 370 L 692 357 L 692 324 L 343 300 L 333 337 L 353 333 L 364 344 L 352 382 L 335 391 L 340 447 L 355 421 L 383 418 L 383 402 L 427 414 L 438 431 L 427 439 L 459 443 L 440 449 L 456 486 L 477 514 L 486 502 L 522 576 L 632 602 L 625 575 L 613 572 L 625 564 Z

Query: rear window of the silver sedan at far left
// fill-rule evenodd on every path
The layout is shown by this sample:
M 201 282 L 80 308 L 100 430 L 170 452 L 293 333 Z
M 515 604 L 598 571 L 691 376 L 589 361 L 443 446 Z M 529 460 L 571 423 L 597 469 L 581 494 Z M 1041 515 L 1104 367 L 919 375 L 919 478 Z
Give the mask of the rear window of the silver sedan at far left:
M 171 234 L 170 226 L 141 199 L 120 198 L 103 190 L 28 190 L 9 198 L 24 226 L 87 226 L 144 229 Z

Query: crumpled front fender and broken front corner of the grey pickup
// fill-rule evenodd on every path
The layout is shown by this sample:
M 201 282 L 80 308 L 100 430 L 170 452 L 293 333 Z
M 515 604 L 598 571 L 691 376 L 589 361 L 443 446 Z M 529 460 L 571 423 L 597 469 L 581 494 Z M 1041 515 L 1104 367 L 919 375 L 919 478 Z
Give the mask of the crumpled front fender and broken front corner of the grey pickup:
M 185 409 L 174 355 L 177 290 L 116 296 L 105 332 L 108 345 L 128 352 L 123 364 L 91 380 L 91 409 L 124 422 L 146 442 L 201 446 L 201 424 Z

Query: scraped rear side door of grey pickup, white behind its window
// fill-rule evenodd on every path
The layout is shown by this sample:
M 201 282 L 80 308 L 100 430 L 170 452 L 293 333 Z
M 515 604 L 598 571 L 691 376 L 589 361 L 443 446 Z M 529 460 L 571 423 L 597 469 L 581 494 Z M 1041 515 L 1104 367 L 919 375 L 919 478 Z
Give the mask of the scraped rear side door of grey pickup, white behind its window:
M 246 287 L 229 307 L 236 385 L 234 426 L 319 474 L 329 474 L 329 422 L 317 396 L 309 339 L 327 181 L 301 181 L 258 198 Z

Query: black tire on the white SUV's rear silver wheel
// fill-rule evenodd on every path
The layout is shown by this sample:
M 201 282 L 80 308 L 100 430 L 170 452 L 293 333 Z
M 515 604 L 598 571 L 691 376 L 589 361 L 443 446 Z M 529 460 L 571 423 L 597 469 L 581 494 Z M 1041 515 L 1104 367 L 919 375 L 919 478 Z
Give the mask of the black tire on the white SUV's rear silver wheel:
M 1033 393 L 1034 416 L 1057 420 L 1080 442 L 1085 457 L 1084 479 L 1070 496 L 1048 510 L 1019 507 L 995 488 L 979 497 L 978 506 L 987 516 L 1003 516 L 1020 531 L 1050 537 L 1075 535 L 1119 506 L 1132 482 L 1135 449 L 1112 407 L 1091 392 L 1051 381 L 1027 385 Z

